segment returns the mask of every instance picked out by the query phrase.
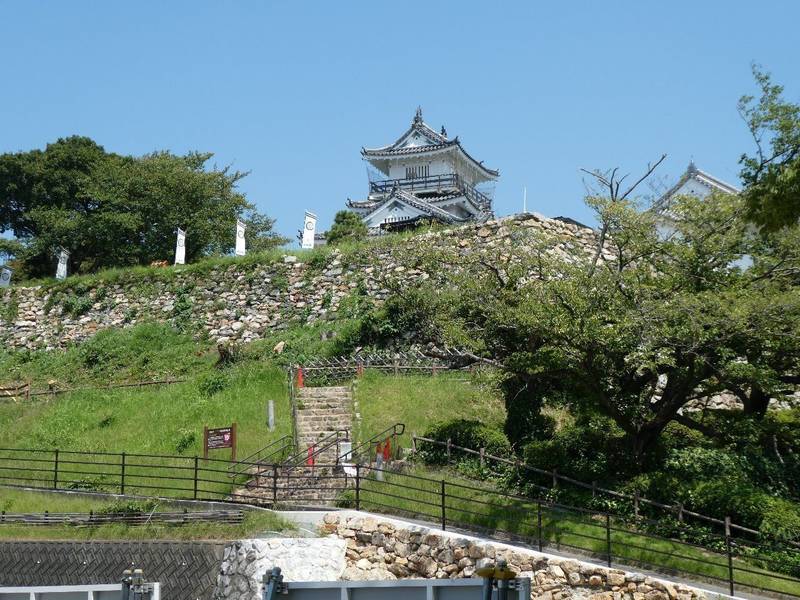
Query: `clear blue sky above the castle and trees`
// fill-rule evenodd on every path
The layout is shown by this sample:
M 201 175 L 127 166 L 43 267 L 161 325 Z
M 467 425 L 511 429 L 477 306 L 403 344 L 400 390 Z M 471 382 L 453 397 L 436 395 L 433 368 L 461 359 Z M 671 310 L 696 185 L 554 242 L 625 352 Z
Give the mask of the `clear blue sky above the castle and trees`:
M 0 152 L 87 135 L 215 153 L 293 236 L 366 194 L 421 105 L 499 168 L 495 209 L 591 222 L 580 167 L 662 153 L 736 183 L 755 61 L 800 100 L 800 2 L 0 0 Z M 648 191 L 648 190 L 645 190 Z

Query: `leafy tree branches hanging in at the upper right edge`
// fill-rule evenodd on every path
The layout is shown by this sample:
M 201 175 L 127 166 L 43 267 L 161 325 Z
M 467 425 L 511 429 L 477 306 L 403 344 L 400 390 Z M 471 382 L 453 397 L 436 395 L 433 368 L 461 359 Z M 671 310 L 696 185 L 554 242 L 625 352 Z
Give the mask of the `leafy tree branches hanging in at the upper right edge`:
M 739 113 L 756 144 L 754 156 L 742 155 L 742 180 L 749 218 L 765 231 L 800 219 L 800 106 L 783 99 L 783 87 L 757 66 L 761 89 L 739 100 Z

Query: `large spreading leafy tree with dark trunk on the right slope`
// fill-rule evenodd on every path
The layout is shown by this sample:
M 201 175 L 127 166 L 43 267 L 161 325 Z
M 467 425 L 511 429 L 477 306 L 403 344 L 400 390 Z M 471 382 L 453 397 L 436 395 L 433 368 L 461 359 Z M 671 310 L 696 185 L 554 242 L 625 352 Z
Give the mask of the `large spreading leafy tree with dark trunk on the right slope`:
M 735 386 L 757 415 L 764 398 L 791 388 L 798 228 L 759 238 L 740 198 L 687 197 L 664 237 L 657 216 L 629 200 L 589 203 L 606 230 L 599 254 L 553 252 L 557 238 L 523 233 L 491 257 L 439 250 L 427 260 L 443 276 L 409 295 L 409 313 L 437 324 L 417 325 L 438 332 L 430 341 L 466 345 L 506 373 L 512 442 L 547 429 L 544 401 L 564 402 L 613 419 L 642 468 L 674 421 L 718 433 L 681 414 L 688 402 Z M 425 295 L 438 312 L 420 308 Z

